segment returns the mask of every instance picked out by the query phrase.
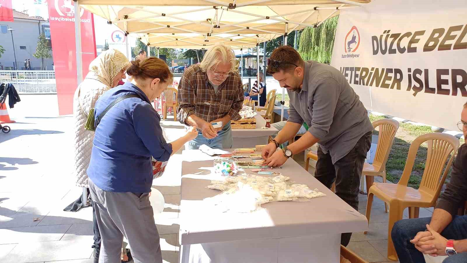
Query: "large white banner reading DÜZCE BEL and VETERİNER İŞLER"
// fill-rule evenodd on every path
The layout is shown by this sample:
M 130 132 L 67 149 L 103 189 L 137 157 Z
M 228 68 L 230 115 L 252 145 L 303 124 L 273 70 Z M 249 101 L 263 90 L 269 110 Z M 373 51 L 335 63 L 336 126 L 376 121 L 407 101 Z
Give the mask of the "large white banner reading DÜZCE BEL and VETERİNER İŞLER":
M 368 110 L 458 130 L 467 1 L 373 1 L 340 13 L 331 65 Z

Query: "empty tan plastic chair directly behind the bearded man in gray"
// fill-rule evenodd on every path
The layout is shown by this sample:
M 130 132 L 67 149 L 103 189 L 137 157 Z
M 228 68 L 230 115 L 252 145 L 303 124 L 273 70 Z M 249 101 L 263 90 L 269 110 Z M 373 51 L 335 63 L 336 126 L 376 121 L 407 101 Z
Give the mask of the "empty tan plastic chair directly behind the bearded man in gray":
M 375 176 L 381 176 L 382 182 L 386 183 L 386 162 L 391 152 L 396 131 L 399 129 L 399 122 L 393 119 L 382 119 L 373 122 L 373 127 L 379 127 L 378 146 L 376 147 L 373 164 L 365 162 L 363 164 L 362 175 L 365 175 L 367 183 L 367 193 L 375 182 Z M 384 210 L 388 212 L 388 204 L 384 203 Z

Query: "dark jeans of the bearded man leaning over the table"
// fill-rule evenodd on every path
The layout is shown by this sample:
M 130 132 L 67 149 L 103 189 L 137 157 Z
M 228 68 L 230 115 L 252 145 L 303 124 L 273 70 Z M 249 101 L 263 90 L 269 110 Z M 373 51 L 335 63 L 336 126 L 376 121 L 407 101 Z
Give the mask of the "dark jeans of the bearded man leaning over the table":
M 315 178 L 327 188 L 331 188 L 336 182 L 336 195 L 357 211 L 361 171 L 371 146 L 371 136 L 372 131 L 363 135 L 354 148 L 334 164 L 331 160 L 331 154 L 323 153 L 318 146 Z M 352 233 L 343 233 L 340 236 L 340 244 L 347 246 L 351 236 Z

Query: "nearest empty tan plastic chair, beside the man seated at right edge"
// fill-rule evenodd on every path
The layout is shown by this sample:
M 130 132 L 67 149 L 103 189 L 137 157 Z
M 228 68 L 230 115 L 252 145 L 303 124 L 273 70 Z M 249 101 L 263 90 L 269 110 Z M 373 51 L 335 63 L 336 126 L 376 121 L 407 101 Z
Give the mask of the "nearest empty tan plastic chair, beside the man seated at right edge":
M 418 148 L 424 142 L 428 143 L 425 170 L 418 190 L 407 186 L 412 173 Z M 397 260 L 396 250 L 392 243 L 391 230 L 397 220 L 402 219 L 403 211 L 409 207 L 409 218 L 418 218 L 420 207 L 436 205 L 441 187 L 446 180 L 447 173 L 459 148 L 459 140 L 446 133 L 428 133 L 415 139 L 409 148 L 405 168 L 399 183 L 373 183 L 368 191 L 367 219 L 370 221 L 373 196 L 389 204 L 388 226 L 388 258 Z M 451 158 L 449 155 L 452 154 Z M 449 161 L 448 161 L 449 158 Z M 447 165 L 446 164 L 447 162 Z M 445 169 L 443 172 L 443 168 Z M 366 234 L 366 232 L 364 232 Z

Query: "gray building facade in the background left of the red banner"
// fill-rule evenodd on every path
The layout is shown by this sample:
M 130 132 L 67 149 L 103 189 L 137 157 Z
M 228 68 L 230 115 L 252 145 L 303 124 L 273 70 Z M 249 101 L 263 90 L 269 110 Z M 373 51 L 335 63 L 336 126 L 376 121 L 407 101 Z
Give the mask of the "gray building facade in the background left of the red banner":
M 0 45 L 5 49 L 5 52 L 0 57 L 3 69 L 14 69 L 14 55 L 16 54 L 18 70 L 24 70 L 25 59 L 31 60 L 33 70 L 40 70 L 41 59 L 35 58 L 33 54 L 35 53 L 40 34 L 44 33 L 46 38 L 50 39 L 49 22 L 40 16 L 29 16 L 16 10 L 13 10 L 13 18 L 14 22 L 0 21 Z M 14 29 L 13 40 L 12 32 L 8 29 Z M 50 55 L 52 55 L 52 51 L 50 51 Z M 53 70 L 52 64 L 53 58 L 44 59 L 45 69 Z

